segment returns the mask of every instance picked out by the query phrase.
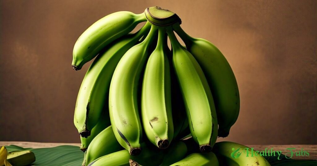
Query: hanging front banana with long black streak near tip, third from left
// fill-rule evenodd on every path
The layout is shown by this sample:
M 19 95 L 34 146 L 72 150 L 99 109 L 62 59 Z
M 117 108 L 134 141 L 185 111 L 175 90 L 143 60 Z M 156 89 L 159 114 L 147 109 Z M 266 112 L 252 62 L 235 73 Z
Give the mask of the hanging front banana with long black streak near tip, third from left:
M 128 50 L 118 63 L 109 91 L 109 113 L 113 132 L 122 147 L 131 155 L 139 155 L 142 126 L 139 119 L 138 85 L 144 64 L 151 54 L 149 46 L 157 36 L 151 27 L 143 42 Z

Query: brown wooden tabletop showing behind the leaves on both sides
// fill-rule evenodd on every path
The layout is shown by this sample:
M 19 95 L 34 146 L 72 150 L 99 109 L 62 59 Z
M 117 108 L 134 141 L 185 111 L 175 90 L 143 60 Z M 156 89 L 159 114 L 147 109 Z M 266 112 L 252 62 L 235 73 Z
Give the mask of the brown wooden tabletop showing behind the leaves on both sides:
M 60 145 L 74 145 L 80 146 L 80 143 L 37 143 L 37 142 L 5 142 L 0 141 L 0 146 L 7 145 L 16 145 L 21 146 L 23 148 L 50 148 Z M 301 151 L 301 149 L 307 151 L 309 156 L 294 156 L 292 159 L 301 159 L 301 160 L 317 160 L 317 145 L 247 145 L 250 148 L 254 148 L 255 150 L 261 151 L 265 150 L 265 148 L 277 151 L 281 150 L 282 153 L 286 151 L 287 148 L 296 148 L 294 151 Z M 288 151 L 287 151 L 288 152 Z

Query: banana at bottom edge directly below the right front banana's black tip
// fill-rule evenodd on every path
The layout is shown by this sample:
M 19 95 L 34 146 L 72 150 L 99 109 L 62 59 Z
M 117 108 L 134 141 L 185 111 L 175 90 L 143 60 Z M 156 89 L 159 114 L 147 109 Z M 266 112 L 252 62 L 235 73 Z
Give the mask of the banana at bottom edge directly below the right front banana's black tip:
M 172 164 L 171 166 L 219 166 L 216 155 L 209 153 L 192 153 L 183 160 Z

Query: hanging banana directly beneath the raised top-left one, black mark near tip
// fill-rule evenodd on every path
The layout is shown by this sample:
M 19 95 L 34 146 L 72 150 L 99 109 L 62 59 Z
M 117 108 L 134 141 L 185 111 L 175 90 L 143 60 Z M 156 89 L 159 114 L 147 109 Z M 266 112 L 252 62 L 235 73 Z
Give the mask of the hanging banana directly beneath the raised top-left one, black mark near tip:
M 151 23 L 146 23 L 137 33 L 113 42 L 89 67 L 79 89 L 74 113 L 74 124 L 82 137 L 90 136 L 90 131 L 98 123 L 101 112 L 108 111 L 108 90 L 121 57 L 148 33 L 150 27 Z

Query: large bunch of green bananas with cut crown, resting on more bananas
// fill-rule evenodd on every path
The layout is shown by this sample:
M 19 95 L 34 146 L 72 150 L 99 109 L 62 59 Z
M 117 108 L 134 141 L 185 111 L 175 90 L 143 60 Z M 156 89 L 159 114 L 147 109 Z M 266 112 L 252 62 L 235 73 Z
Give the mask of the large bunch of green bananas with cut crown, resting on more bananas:
M 146 23 L 130 33 L 141 22 Z M 120 11 L 76 41 L 75 70 L 96 57 L 74 114 L 83 165 L 217 165 L 217 153 L 227 155 L 211 150 L 238 117 L 236 78 L 217 47 L 190 37 L 180 23 L 159 7 L 141 14 Z M 190 151 L 179 141 L 189 136 L 195 142 Z

